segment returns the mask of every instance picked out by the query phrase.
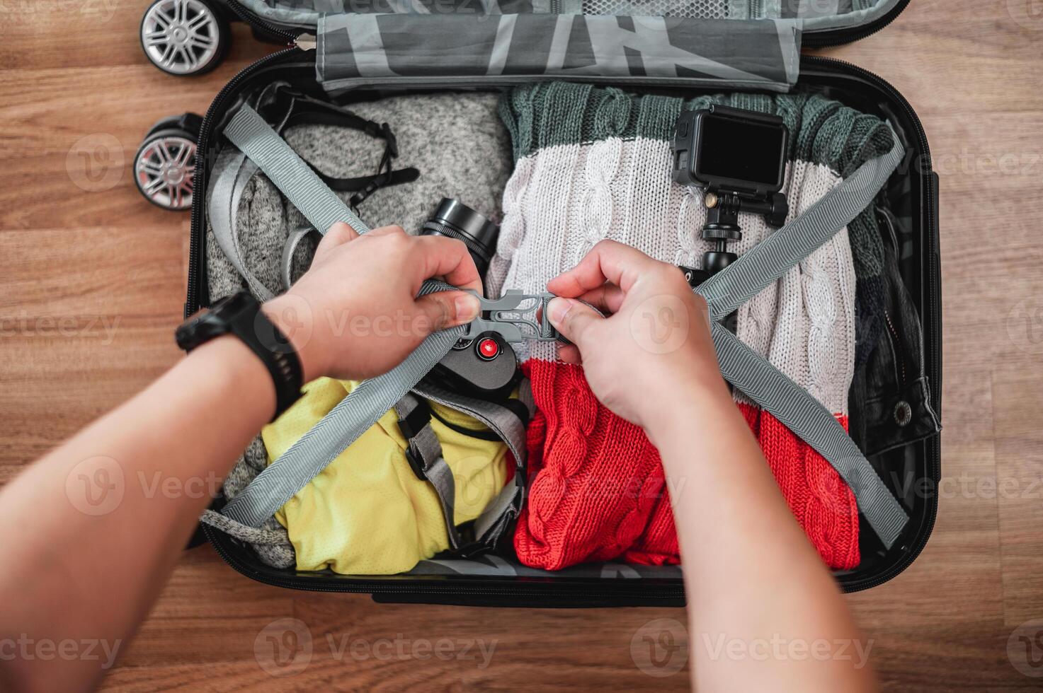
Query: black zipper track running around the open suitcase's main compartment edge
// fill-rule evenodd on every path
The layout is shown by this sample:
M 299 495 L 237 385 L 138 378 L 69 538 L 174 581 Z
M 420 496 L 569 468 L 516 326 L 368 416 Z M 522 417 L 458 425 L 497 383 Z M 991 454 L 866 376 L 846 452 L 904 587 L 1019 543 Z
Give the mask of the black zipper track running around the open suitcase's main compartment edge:
M 907 2 L 907 0 L 905 1 Z M 899 5 L 897 5 L 896 8 L 902 7 L 904 6 L 904 4 L 905 2 L 899 3 Z M 267 27 L 267 25 L 263 26 L 265 28 L 270 29 L 270 27 Z M 882 28 L 882 26 L 880 28 Z M 263 57 L 257 63 L 253 63 L 252 65 L 244 68 L 242 71 L 236 74 L 236 76 L 233 77 L 227 84 L 224 85 L 224 88 L 214 98 L 213 103 L 211 103 L 211 106 L 207 110 L 207 115 L 203 118 L 202 125 L 199 128 L 198 151 L 200 152 L 207 151 L 207 145 L 210 139 L 210 129 L 213 126 L 213 122 L 218 117 L 219 112 L 224 106 L 224 101 L 228 98 L 228 96 L 235 90 L 235 88 L 237 88 L 239 83 L 245 80 L 245 78 L 249 74 L 253 73 L 257 70 L 260 70 L 262 67 L 268 65 L 269 63 L 273 63 L 277 59 L 281 59 L 291 51 L 295 50 L 297 49 L 287 48 L 285 50 Z M 935 252 L 935 239 L 932 233 L 933 209 L 931 206 L 933 204 L 933 178 L 930 175 L 930 152 L 927 146 L 926 132 L 924 132 L 923 125 L 920 122 L 919 117 L 913 110 L 908 102 L 905 101 L 904 97 L 902 97 L 902 95 L 899 94 L 894 86 L 884 81 L 878 75 L 869 72 L 868 70 L 865 70 L 863 68 L 859 68 L 857 66 L 851 65 L 850 63 L 846 63 L 844 60 L 838 60 L 834 58 L 804 55 L 802 56 L 801 61 L 802 64 L 805 65 L 817 65 L 826 68 L 843 67 L 849 70 L 853 75 L 862 77 L 863 79 L 872 82 L 876 88 L 880 89 L 886 94 L 891 96 L 894 103 L 901 106 L 902 110 L 914 125 L 914 131 L 917 135 L 918 145 L 924 157 L 923 166 L 921 167 L 921 170 L 924 171 L 923 175 L 923 192 L 925 200 L 924 217 L 926 220 L 926 229 L 927 229 L 927 232 L 924 234 L 924 237 L 926 240 L 925 245 L 927 246 L 925 250 L 928 252 L 927 269 L 928 269 L 928 279 L 929 279 L 929 287 L 928 287 L 929 291 L 927 293 L 930 306 L 929 319 L 931 320 L 932 337 L 933 337 L 933 339 L 931 340 L 931 355 L 933 356 L 933 358 L 931 360 L 929 377 L 930 380 L 936 386 L 935 398 L 936 400 L 938 400 L 935 402 L 936 411 L 941 412 L 941 406 L 939 405 L 940 394 L 941 394 L 941 352 L 939 349 L 939 345 L 937 343 L 937 336 L 941 328 L 941 325 L 939 324 L 940 320 L 939 294 L 941 292 L 941 287 L 939 286 L 938 282 L 938 268 L 936 267 L 937 253 Z M 202 163 L 199 162 L 196 166 L 193 189 L 204 191 L 205 166 L 202 166 L 201 164 Z M 198 297 L 198 292 L 196 291 L 196 284 L 198 283 L 199 251 L 201 246 L 202 214 L 203 214 L 204 197 L 205 195 L 201 195 L 198 198 L 194 198 L 192 204 L 192 223 L 190 230 L 191 237 L 189 242 L 189 247 L 190 247 L 189 280 L 188 280 L 189 286 L 188 286 L 187 300 L 185 304 L 186 317 L 190 314 L 190 312 L 194 313 L 195 310 L 198 307 L 199 297 Z M 927 443 L 928 471 L 930 472 L 932 480 L 936 482 L 939 480 L 941 476 L 941 459 L 940 459 L 939 447 L 940 447 L 939 436 L 936 436 L 930 442 Z M 851 580 L 848 583 L 845 583 L 843 578 L 841 578 L 840 583 L 842 589 L 845 592 L 855 592 L 859 590 L 866 590 L 875 587 L 877 585 L 882 585 L 883 583 L 887 583 L 888 580 L 892 579 L 893 577 L 901 573 L 903 570 L 905 570 L 905 568 L 907 568 L 913 563 L 913 561 L 920 554 L 920 552 L 923 550 L 923 547 L 926 545 L 927 539 L 930 537 L 931 529 L 933 528 L 937 516 L 938 516 L 938 498 L 937 496 L 935 496 L 928 509 L 926 521 L 923 525 L 924 530 L 918 534 L 918 536 L 916 537 L 916 541 L 914 542 L 909 550 L 907 550 L 898 560 L 898 562 L 895 563 L 889 570 L 884 571 L 880 575 L 877 575 L 872 578 Z M 316 592 L 365 592 L 365 593 L 411 592 L 411 593 L 423 593 L 423 594 L 489 594 L 489 595 L 510 595 L 518 593 L 516 590 L 512 591 L 510 588 L 503 588 L 503 589 L 484 588 L 476 590 L 474 588 L 463 588 L 452 585 L 427 588 L 423 586 L 399 587 L 391 585 L 372 585 L 372 584 L 330 587 L 325 585 L 310 585 L 302 580 L 297 580 L 293 578 L 280 579 L 267 575 L 256 574 L 254 572 L 250 571 L 248 567 L 241 566 L 239 561 L 234 559 L 224 549 L 224 547 L 221 546 L 219 541 L 216 541 L 211 537 L 211 529 L 209 527 L 205 527 L 205 533 L 208 538 L 211 539 L 211 544 L 215 546 L 218 554 L 220 554 L 220 556 L 225 561 L 225 563 L 227 563 L 229 566 L 232 566 L 239 572 L 248 575 L 249 577 L 252 577 L 258 581 L 265 583 L 268 585 L 273 585 L 276 587 L 286 587 L 298 590 L 310 590 Z M 642 590 L 647 594 L 647 586 L 644 587 Z M 662 590 L 662 595 L 664 599 L 680 599 L 683 598 L 683 594 L 684 591 L 681 587 L 669 588 Z M 576 594 L 573 596 L 583 596 L 583 595 Z M 610 598 L 609 595 L 593 594 L 593 593 L 591 593 L 590 596 L 604 596 L 606 598 Z

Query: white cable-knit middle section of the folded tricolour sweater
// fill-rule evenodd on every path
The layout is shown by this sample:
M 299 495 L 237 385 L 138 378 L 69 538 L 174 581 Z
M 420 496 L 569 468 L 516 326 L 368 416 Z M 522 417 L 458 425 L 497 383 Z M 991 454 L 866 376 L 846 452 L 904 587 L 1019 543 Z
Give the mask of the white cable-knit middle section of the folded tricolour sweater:
M 504 192 L 504 223 L 486 278 L 490 295 L 505 289 L 545 291 L 603 239 L 656 259 L 699 267 L 710 244 L 702 194 L 671 180 L 670 143 L 610 138 L 559 145 L 518 160 Z M 840 177 L 827 167 L 793 162 L 783 192 L 790 218 L 803 213 Z M 742 215 L 742 254 L 774 229 Z M 738 338 L 815 395 L 847 414 L 854 372 L 854 270 L 846 229 L 738 311 Z M 534 344 L 523 358 L 553 360 L 554 346 Z M 741 397 L 741 395 L 739 395 Z

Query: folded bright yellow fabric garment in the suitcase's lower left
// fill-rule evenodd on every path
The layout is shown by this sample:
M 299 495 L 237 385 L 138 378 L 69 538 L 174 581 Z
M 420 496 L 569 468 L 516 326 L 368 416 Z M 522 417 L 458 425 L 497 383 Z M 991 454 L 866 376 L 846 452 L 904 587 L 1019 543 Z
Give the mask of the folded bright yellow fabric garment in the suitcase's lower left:
M 326 415 L 356 382 L 319 378 L 261 431 L 269 464 Z M 510 477 L 507 445 L 475 419 L 429 402 L 431 428 L 456 481 L 454 524 L 474 520 Z M 393 410 L 385 414 L 283 505 L 298 570 L 356 575 L 404 572 L 450 548 L 438 495 L 413 473 Z M 277 464 L 277 463 L 274 463 Z M 512 469 L 512 467 L 511 467 Z

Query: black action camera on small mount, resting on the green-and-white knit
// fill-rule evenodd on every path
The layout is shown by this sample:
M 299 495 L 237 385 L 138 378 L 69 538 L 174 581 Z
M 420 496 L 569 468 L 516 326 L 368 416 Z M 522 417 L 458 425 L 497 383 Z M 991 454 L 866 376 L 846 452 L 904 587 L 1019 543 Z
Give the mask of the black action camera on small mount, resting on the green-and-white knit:
M 785 223 L 790 207 L 779 191 L 789 140 L 781 118 L 752 110 L 714 104 L 677 119 L 673 178 L 705 192 L 702 238 L 713 250 L 703 255 L 704 272 L 713 274 L 737 258 L 726 248 L 743 238 L 739 212 L 763 215 L 771 226 Z

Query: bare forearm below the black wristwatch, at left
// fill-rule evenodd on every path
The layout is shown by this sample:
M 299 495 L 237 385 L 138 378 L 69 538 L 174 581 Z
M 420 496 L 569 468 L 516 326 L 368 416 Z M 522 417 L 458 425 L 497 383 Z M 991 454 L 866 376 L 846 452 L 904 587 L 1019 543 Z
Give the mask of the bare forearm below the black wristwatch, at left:
M 211 494 L 273 411 L 264 365 L 220 338 L 8 484 L 0 639 L 125 646 Z M 0 669 L 70 690 L 96 680 L 103 664 L 16 655 Z

